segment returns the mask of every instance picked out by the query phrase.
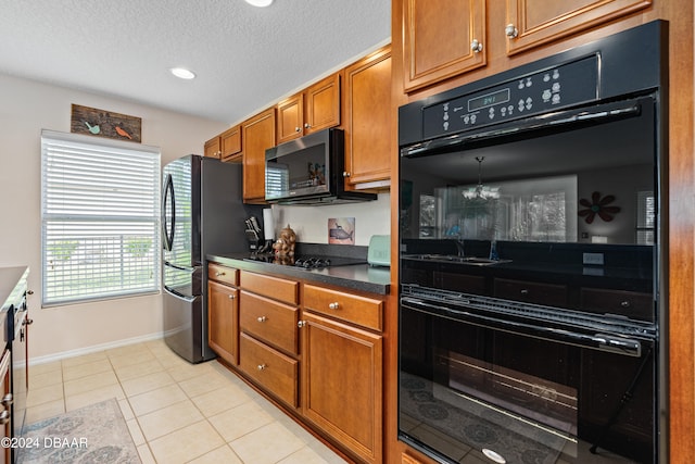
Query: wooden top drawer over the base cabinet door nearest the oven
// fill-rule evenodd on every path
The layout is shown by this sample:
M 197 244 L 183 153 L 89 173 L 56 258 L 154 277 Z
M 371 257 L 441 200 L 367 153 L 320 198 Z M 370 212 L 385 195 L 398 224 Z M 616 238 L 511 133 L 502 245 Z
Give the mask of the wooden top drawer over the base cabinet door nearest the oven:
M 304 286 L 304 308 L 363 327 L 383 329 L 383 302 L 326 288 Z

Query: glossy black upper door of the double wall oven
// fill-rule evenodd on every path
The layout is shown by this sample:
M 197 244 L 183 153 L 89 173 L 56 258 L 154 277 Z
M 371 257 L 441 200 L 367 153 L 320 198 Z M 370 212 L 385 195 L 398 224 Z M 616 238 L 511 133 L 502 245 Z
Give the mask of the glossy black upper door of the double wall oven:
M 401 284 L 656 321 L 656 96 L 403 147 Z

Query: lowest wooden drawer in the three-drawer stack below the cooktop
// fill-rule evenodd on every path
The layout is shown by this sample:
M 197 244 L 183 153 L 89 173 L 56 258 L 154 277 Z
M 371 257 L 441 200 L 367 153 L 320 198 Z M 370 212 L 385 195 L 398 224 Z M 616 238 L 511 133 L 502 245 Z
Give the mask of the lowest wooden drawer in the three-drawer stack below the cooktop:
M 288 404 L 299 406 L 299 361 L 243 333 L 239 337 L 239 359 L 249 377 Z

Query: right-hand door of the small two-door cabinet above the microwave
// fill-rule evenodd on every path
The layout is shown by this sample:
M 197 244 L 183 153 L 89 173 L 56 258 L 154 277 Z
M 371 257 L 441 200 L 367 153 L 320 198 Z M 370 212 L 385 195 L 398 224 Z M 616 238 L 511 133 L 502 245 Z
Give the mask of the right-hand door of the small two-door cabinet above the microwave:
M 311 86 L 305 92 L 304 133 L 312 134 L 340 124 L 340 73 Z

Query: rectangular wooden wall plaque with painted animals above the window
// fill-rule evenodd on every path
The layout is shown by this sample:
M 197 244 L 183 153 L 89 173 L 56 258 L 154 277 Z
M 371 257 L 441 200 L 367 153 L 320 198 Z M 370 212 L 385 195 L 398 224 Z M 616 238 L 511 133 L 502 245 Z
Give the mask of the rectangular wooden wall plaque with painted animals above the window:
M 140 142 L 141 126 L 141 117 L 73 103 L 71 133 Z

